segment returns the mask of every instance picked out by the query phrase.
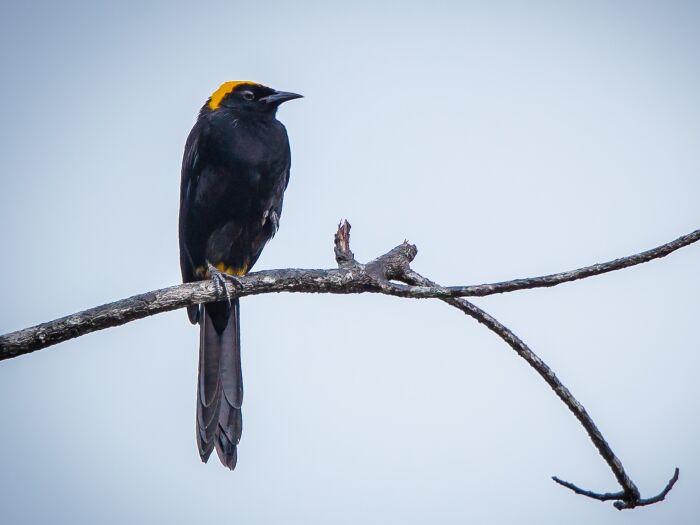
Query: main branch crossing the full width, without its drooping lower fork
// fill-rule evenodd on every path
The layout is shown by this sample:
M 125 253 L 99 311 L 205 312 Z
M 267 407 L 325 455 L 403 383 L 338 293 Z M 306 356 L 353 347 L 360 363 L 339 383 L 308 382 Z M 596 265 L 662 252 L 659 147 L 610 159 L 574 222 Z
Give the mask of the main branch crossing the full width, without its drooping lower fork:
M 350 224 L 343 221 L 336 233 L 335 254 L 339 269 L 331 270 L 268 270 L 240 277 L 240 287 L 228 285 L 231 297 L 264 293 L 382 293 L 412 299 L 445 299 L 465 296 L 484 296 L 525 288 L 555 286 L 613 270 L 619 270 L 664 257 L 675 250 L 700 240 L 700 230 L 670 243 L 630 257 L 587 266 L 579 270 L 544 277 L 515 279 L 501 283 L 450 288 L 434 286 L 401 286 L 388 282 L 397 272 L 407 268 L 417 250 L 406 242 L 385 255 L 363 266 L 355 261 L 350 251 Z M 379 279 L 378 277 L 385 277 Z M 96 330 L 119 326 L 136 319 L 176 310 L 192 304 L 222 300 L 211 281 L 181 284 L 127 299 L 90 308 L 54 321 L 42 323 L 17 332 L 0 336 L 0 361 L 24 355 L 48 346 L 68 341 Z

